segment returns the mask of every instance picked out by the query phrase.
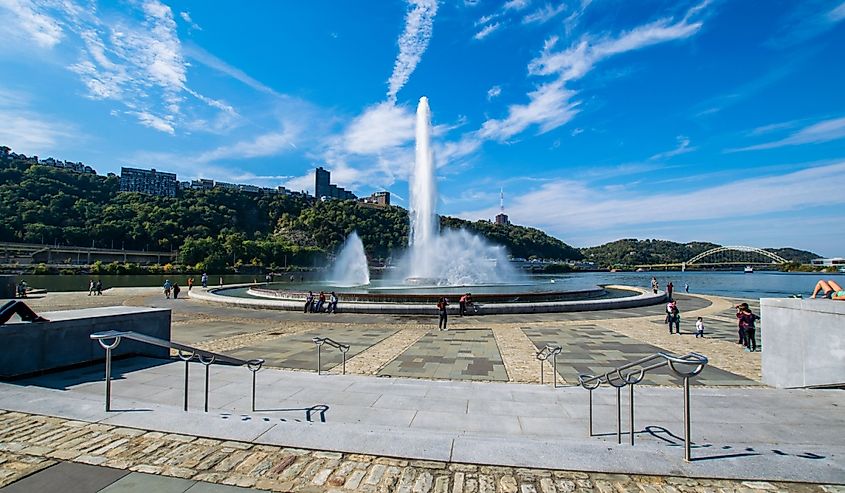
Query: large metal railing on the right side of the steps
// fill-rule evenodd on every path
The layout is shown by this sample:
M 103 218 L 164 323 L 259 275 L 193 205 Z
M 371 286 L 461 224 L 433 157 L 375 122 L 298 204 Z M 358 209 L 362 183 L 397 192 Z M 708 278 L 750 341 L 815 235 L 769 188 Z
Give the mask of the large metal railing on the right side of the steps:
M 590 393 L 589 432 L 593 436 L 593 391 L 603 383 L 616 389 L 616 441 L 622 443 L 622 398 L 621 390 L 629 387 L 629 419 L 631 445 L 634 445 L 634 385 L 640 383 L 646 373 L 668 366 L 675 375 L 684 379 L 684 460 L 690 461 L 690 405 L 689 380 L 697 376 L 707 365 L 703 354 L 688 353 L 675 356 L 669 353 L 655 353 L 651 356 L 614 368 L 603 375 L 578 375 L 578 382 Z M 630 370 L 630 371 L 627 371 Z

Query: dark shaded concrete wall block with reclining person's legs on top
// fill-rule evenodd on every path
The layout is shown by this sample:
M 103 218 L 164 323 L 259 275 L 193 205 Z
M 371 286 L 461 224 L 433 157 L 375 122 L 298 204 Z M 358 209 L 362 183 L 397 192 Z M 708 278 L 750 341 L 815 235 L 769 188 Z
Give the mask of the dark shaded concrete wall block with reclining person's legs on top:
M 94 332 L 131 330 L 170 340 L 170 309 L 110 306 L 39 315 L 50 321 L 0 325 L 0 378 L 101 361 L 105 350 L 89 337 Z M 128 340 L 122 340 L 112 354 L 170 356 L 167 348 Z

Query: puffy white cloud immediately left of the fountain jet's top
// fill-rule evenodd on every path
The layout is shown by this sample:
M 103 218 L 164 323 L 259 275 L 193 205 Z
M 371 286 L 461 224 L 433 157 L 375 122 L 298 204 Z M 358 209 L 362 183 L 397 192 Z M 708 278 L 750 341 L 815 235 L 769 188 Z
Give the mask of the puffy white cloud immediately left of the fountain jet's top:
M 347 126 L 343 147 L 354 154 L 378 154 L 407 145 L 414 138 L 415 122 L 407 108 L 389 101 L 371 106 Z

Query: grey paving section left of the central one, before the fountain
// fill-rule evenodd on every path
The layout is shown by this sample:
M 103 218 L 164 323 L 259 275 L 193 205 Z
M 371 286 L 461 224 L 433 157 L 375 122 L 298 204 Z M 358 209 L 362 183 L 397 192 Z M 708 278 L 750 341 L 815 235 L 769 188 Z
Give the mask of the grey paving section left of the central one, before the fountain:
M 312 330 L 257 342 L 228 351 L 236 358 L 263 358 L 269 366 L 314 370 L 317 367 L 317 347 L 314 337 L 329 337 L 341 344 L 349 344 L 347 359 L 392 336 L 396 328 L 331 327 Z M 341 364 L 343 355 L 337 349 L 324 345 L 321 350 L 320 368 L 329 370 Z

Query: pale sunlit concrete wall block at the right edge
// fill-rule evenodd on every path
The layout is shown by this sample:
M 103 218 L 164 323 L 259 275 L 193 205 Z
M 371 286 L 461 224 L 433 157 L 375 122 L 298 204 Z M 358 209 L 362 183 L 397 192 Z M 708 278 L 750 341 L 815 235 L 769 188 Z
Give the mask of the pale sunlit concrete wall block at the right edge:
M 763 383 L 794 388 L 845 383 L 845 302 L 763 298 Z

